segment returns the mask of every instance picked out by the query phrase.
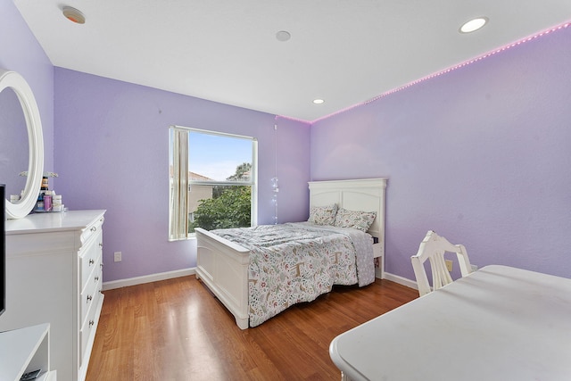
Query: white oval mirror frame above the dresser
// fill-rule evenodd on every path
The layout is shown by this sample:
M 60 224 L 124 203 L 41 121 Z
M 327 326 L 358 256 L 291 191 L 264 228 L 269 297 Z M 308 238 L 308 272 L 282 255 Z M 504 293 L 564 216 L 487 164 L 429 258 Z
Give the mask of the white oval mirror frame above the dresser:
M 6 217 L 21 219 L 34 209 L 39 195 L 44 171 L 44 135 L 36 98 L 26 79 L 15 71 L 0 69 L 0 92 L 7 87 L 11 87 L 18 96 L 28 126 L 29 167 L 26 188 L 17 203 L 11 203 L 6 199 Z M 21 171 L 15 168 L 14 170 Z

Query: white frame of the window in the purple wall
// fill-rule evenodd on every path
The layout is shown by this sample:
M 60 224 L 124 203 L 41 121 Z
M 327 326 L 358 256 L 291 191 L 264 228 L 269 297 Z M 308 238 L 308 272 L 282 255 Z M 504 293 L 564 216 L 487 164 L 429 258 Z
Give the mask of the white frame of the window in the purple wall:
M 250 140 L 252 142 L 252 173 L 250 177 L 250 181 L 196 181 L 188 179 L 186 175 L 186 179 L 180 181 L 180 186 L 186 187 L 188 190 L 191 189 L 193 184 L 201 185 L 201 186 L 251 186 L 251 204 L 250 204 L 250 221 L 252 226 L 256 226 L 258 224 L 258 140 L 255 137 L 246 137 L 243 135 L 236 135 L 236 134 L 228 134 L 225 132 L 216 132 L 210 131 L 206 129 L 200 128 L 190 128 L 190 127 L 183 127 L 183 126 L 170 126 L 169 128 L 169 167 L 170 169 L 173 168 L 176 162 L 174 158 L 175 149 L 174 149 L 174 142 L 173 142 L 173 133 L 185 133 L 186 132 L 186 142 L 188 142 L 188 133 L 200 133 L 200 134 L 208 134 L 217 137 L 234 137 L 240 138 L 245 140 Z M 183 148 L 184 150 L 184 148 Z M 186 145 L 186 150 L 188 150 Z M 181 163 L 181 170 L 184 171 L 186 174 L 189 171 L 188 167 L 188 154 L 186 152 L 186 164 Z M 169 173 L 169 241 L 178 241 L 183 239 L 194 238 L 194 233 L 188 233 L 188 213 L 186 212 L 186 221 L 181 221 L 180 219 L 183 218 L 185 213 L 179 213 L 173 207 L 173 176 Z M 184 184 L 186 183 L 186 184 Z M 184 195 L 183 195 L 184 194 Z M 180 192 L 180 197 L 185 198 L 186 201 L 183 203 L 186 205 L 186 209 L 188 208 L 188 192 Z M 183 227 L 186 226 L 186 234 L 182 231 L 177 232 L 176 226 Z

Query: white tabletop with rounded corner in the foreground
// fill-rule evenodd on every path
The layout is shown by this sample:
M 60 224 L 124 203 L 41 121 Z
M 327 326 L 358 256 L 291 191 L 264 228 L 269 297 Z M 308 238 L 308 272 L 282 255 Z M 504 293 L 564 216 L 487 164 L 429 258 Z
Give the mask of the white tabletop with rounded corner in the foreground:
M 571 380 L 571 279 L 506 266 L 338 335 L 352 380 Z

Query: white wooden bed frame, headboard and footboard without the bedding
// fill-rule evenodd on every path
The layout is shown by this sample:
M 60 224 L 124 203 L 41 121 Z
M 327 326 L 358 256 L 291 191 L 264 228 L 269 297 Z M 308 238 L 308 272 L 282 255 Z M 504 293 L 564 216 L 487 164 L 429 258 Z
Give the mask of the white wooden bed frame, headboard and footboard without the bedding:
M 385 253 L 385 178 L 359 180 L 311 181 L 310 207 L 337 203 L 340 208 L 352 211 L 377 211 L 377 218 L 368 229 L 378 238 L 374 244 L 375 257 L 379 257 L 377 277 L 384 276 Z M 196 228 L 196 277 L 203 280 L 219 301 L 236 318 L 241 329 L 248 324 L 248 265 L 250 251 L 216 236 L 203 228 Z

